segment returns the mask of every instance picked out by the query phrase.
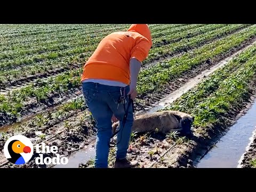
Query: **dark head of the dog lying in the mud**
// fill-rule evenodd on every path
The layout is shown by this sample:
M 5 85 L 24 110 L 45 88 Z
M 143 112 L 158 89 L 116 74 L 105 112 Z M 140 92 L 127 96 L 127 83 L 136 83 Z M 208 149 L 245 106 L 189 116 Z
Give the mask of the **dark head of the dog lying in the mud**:
M 191 126 L 193 125 L 194 117 L 190 115 L 186 115 L 182 118 L 178 115 L 175 115 L 175 117 L 179 121 L 179 127 L 182 128 L 180 134 L 188 138 L 191 138 L 193 136 Z

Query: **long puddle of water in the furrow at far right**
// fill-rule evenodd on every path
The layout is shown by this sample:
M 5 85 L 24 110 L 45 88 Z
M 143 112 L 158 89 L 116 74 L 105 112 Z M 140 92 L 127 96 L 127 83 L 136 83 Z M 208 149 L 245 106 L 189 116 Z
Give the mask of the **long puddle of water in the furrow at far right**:
M 256 126 L 256 103 L 216 143 L 197 168 L 236 168 Z

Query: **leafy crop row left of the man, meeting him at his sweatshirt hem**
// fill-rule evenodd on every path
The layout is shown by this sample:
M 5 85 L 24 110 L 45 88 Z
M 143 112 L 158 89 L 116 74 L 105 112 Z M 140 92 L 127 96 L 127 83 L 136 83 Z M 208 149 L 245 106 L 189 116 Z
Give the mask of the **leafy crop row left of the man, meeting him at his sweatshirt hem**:
M 68 90 L 79 87 L 81 71 L 68 71 L 57 77 L 47 78 L 47 81 L 38 79 L 34 84 L 23 86 L 21 89 L 14 90 L 4 97 L 0 95 L 0 121 L 6 123 L 6 118 L 17 119 L 21 114 L 28 110 L 26 106 L 37 105 L 50 101 L 56 95 L 65 95 Z M 35 99 L 31 99 L 35 98 Z

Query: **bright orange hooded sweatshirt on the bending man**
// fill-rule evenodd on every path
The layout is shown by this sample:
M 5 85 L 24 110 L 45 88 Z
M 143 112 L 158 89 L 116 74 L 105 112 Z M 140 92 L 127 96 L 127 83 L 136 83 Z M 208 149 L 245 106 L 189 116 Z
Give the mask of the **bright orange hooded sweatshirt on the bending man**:
M 130 59 L 145 60 L 152 46 L 146 24 L 133 24 L 127 31 L 107 35 L 85 63 L 81 81 L 106 79 L 130 84 Z

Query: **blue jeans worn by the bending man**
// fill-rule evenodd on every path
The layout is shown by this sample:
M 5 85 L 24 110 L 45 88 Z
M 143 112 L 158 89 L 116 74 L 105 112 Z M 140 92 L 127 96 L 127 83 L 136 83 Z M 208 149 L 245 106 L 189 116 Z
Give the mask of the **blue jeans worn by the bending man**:
M 126 158 L 133 124 L 133 110 L 132 105 L 130 105 L 125 125 L 122 127 L 125 111 L 122 103 L 118 106 L 118 100 L 121 97 L 120 88 L 118 86 L 108 86 L 92 82 L 82 83 L 85 102 L 97 126 L 96 168 L 108 167 L 109 142 L 112 135 L 111 117 L 113 114 L 119 120 L 119 129 L 121 129 L 117 133 L 116 159 Z M 127 95 L 130 87 L 126 86 L 124 89 L 125 95 Z M 125 109 L 127 109 L 128 97 L 126 101 Z

